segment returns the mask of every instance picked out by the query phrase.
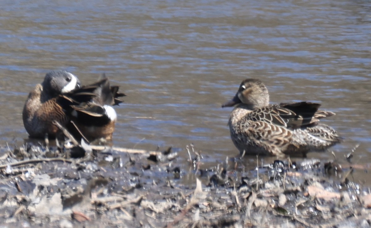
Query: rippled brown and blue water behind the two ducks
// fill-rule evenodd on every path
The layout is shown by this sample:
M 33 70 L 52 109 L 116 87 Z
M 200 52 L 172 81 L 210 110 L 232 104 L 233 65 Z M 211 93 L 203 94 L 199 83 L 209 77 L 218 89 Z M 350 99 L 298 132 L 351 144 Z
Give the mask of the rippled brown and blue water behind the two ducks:
M 345 138 L 336 156 L 360 144 L 354 161 L 369 163 L 370 11 L 360 0 L 3 0 L 0 144 L 27 138 L 23 103 L 46 72 L 66 69 L 85 84 L 105 72 L 128 95 L 116 108 L 115 146 L 194 143 L 219 163 L 238 154 L 227 128 L 232 109 L 220 106 L 253 77 L 272 102 L 334 111 L 324 121 Z

